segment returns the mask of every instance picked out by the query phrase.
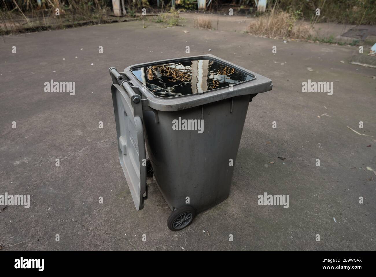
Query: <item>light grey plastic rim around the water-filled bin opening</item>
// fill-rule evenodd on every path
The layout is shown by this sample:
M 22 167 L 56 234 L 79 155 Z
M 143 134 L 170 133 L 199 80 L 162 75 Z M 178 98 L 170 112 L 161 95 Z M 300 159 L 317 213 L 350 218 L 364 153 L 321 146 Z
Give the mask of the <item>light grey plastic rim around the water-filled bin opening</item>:
M 140 93 L 143 95 L 143 106 L 146 105 L 150 108 L 159 111 L 179 111 L 231 98 L 234 96 L 240 96 L 245 94 L 257 94 L 265 91 L 270 91 L 273 87 L 271 79 L 211 54 L 187 56 L 173 59 L 164 59 L 160 61 L 145 62 L 141 64 L 134 64 L 125 68 L 124 74 L 129 78 L 133 85 L 135 85 L 136 87 L 143 87 L 144 84 L 141 81 L 139 81 L 139 79 L 136 78 L 135 75 L 133 75 L 133 68 L 146 67 L 153 64 L 177 62 L 182 60 L 189 61 L 194 59 L 209 59 L 211 61 L 220 62 L 222 64 L 234 67 L 237 70 L 243 71 L 244 73 L 247 73 L 251 76 L 254 76 L 254 78 L 244 82 L 240 82 L 238 84 L 234 84 L 232 90 L 229 90 L 229 86 L 227 86 L 223 88 L 216 88 L 214 90 L 204 91 L 202 93 L 185 94 L 182 96 L 168 98 L 157 96 L 152 91 L 150 91 L 149 88 L 145 87 L 144 90 L 140 90 Z

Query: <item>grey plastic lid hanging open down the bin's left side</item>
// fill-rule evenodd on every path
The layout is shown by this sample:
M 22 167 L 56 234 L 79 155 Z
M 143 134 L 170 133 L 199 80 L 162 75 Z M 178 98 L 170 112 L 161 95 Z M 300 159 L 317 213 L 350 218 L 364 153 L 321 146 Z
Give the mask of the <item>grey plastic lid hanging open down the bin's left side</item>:
M 142 109 L 141 102 L 135 103 L 134 97 L 130 97 L 118 84 L 113 84 L 111 91 L 121 168 L 136 209 L 141 210 L 147 199 L 145 139 L 142 111 L 139 110 Z

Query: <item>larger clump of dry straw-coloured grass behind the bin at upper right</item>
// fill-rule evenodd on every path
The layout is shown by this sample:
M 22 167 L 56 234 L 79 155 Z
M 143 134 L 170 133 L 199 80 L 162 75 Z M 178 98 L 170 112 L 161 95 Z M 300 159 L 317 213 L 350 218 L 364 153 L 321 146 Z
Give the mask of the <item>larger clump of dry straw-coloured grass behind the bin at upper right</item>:
M 293 14 L 283 11 L 271 12 L 255 18 L 255 21 L 249 24 L 247 31 L 270 38 L 307 39 L 314 36 L 314 29 L 310 24 L 297 22 Z

